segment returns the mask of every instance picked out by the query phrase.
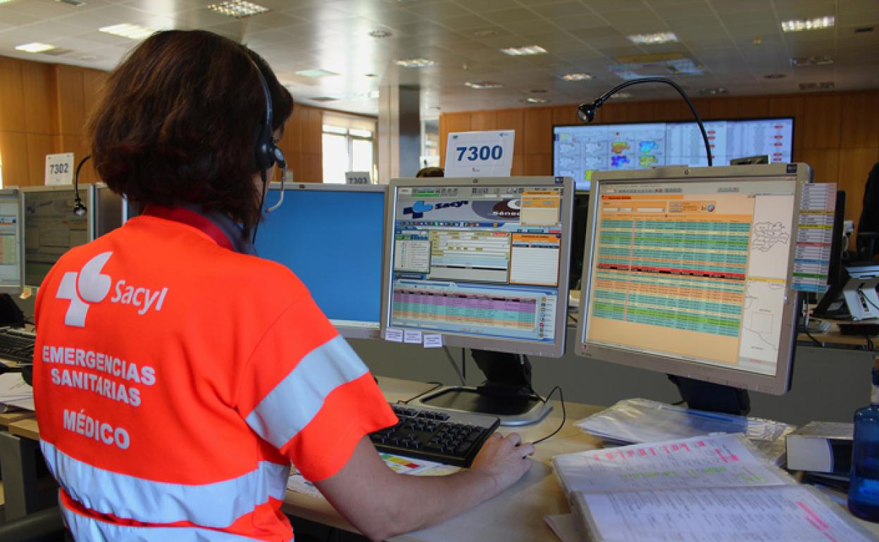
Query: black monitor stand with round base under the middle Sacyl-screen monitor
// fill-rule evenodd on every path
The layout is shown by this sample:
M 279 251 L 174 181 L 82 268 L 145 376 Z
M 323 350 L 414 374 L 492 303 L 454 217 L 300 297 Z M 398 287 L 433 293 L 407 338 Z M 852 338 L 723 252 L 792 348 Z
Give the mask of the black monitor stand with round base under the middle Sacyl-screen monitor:
M 412 401 L 427 408 L 444 408 L 498 416 L 501 425 L 540 422 L 552 411 L 531 387 L 531 362 L 521 354 L 472 350 L 473 360 L 485 374 L 478 387 L 442 387 Z

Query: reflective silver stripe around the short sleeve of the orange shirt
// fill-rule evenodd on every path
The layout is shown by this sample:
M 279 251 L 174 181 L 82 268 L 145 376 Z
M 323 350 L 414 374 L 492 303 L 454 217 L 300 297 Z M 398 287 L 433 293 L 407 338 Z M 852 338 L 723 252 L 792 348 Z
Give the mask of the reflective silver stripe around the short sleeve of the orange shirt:
M 311 350 L 245 418 L 260 437 L 280 448 L 314 418 L 327 395 L 359 379 L 367 366 L 341 336 Z

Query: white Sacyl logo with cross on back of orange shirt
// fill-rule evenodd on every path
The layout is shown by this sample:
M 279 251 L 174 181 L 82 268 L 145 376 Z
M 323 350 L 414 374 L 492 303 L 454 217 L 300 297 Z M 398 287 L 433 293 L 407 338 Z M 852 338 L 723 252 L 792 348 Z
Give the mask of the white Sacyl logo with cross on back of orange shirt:
M 85 327 L 85 316 L 93 303 L 100 303 L 106 299 L 113 285 L 110 275 L 102 273 L 107 260 L 113 256 L 113 252 L 102 252 L 91 258 L 83 265 L 82 271 L 67 271 L 58 286 L 55 297 L 59 300 L 70 300 L 67 314 L 64 315 L 64 323 L 76 328 Z M 147 288 L 127 285 L 125 279 L 116 282 L 114 295 L 110 298 L 111 303 L 131 305 L 137 307 L 137 314 L 147 314 L 150 308 L 156 312 L 162 310 L 162 304 L 168 288 L 161 290 L 149 290 Z

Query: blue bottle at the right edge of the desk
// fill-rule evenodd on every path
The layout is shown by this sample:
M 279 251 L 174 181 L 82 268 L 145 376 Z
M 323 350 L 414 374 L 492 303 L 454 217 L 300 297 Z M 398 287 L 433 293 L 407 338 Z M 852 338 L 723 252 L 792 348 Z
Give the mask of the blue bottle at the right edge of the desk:
M 879 522 L 879 356 L 873 367 L 870 405 L 854 412 L 848 509 L 861 519 Z

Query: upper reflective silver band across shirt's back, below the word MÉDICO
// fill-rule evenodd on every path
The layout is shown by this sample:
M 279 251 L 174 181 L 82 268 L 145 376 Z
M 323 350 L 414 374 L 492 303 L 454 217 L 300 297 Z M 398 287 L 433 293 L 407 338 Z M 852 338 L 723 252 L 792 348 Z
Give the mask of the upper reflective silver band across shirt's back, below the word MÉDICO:
M 55 480 L 85 508 L 149 524 L 227 527 L 270 496 L 282 500 L 290 473 L 289 465 L 260 461 L 256 469 L 230 480 L 173 484 L 91 466 L 46 441 L 40 441 L 40 448 Z

